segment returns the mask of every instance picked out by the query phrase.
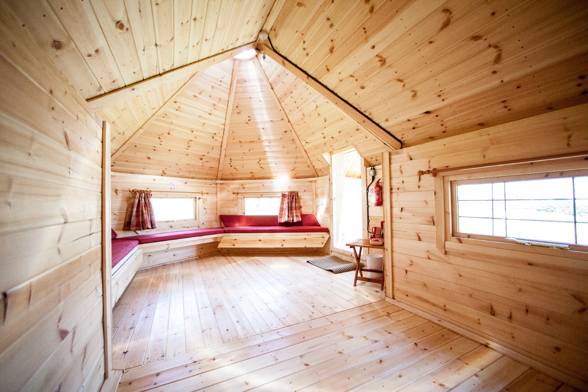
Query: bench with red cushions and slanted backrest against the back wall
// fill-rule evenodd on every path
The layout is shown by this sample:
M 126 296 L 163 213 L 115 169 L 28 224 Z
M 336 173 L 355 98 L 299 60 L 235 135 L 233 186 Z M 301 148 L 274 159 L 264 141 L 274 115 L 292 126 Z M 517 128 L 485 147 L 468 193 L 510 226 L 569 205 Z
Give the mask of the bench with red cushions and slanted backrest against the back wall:
M 278 215 L 220 215 L 225 235 L 222 248 L 322 248 L 329 229 L 313 214 L 298 222 L 278 222 Z

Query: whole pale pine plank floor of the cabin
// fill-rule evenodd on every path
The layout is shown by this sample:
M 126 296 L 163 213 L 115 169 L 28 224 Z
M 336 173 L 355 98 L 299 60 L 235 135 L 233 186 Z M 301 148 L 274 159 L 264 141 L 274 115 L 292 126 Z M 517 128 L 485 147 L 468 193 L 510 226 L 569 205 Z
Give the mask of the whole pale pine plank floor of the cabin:
M 118 390 L 576 392 L 308 258 L 211 255 L 137 274 L 116 313 Z

